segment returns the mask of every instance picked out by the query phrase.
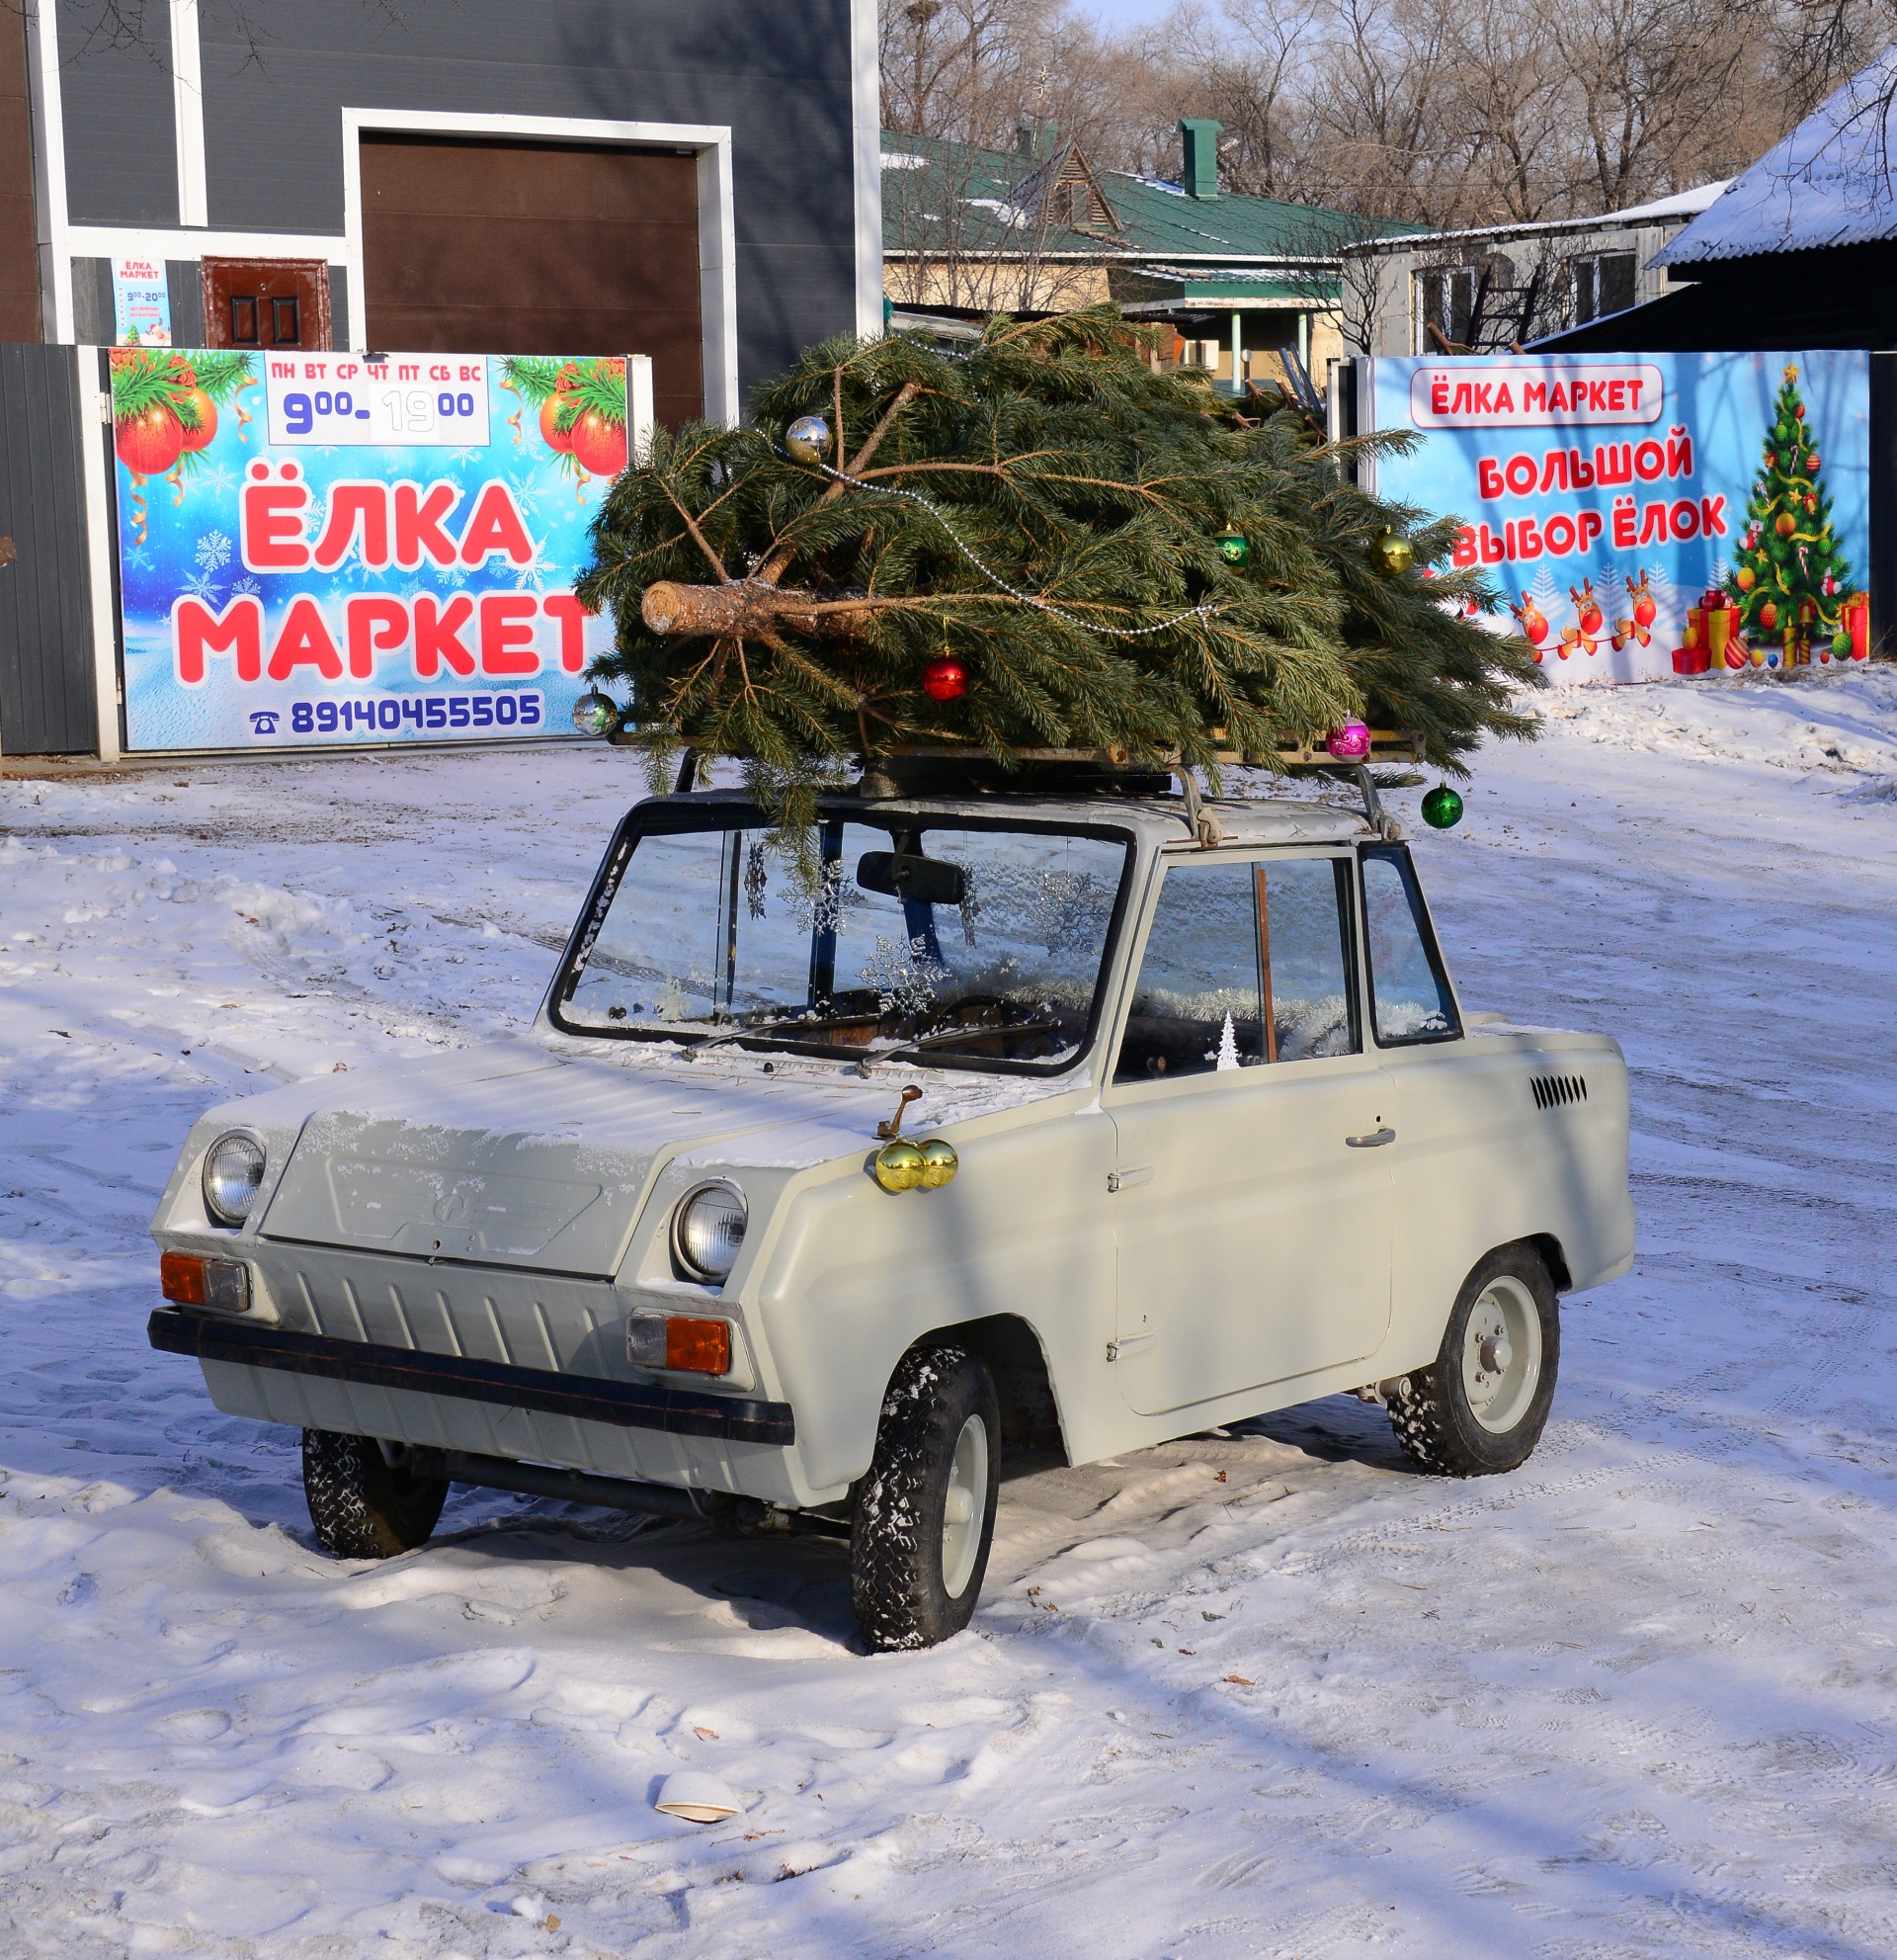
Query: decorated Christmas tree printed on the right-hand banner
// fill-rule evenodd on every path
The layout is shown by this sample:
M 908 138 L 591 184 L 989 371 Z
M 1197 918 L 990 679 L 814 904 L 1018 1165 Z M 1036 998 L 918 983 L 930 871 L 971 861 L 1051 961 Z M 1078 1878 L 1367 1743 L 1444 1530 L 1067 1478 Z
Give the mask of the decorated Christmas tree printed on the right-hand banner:
M 1799 370 L 1787 367 L 1746 502 L 1738 563 L 1725 582 L 1738 604 L 1744 637 L 1752 645 L 1783 643 L 1787 664 L 1793 647 L 1809 649 L 1844 631 L 1850 566 L 1830 531 L 1830 492 L 1819 478 L 1823 466 L 1805 427 Z

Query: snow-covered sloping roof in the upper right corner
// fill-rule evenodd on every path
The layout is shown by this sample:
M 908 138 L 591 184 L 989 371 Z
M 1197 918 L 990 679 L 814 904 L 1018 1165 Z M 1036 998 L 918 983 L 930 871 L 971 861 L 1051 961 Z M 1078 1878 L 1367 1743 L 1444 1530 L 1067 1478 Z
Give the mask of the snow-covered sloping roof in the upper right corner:
M 1813 110 L 1654 265 L 1707 265 L 1897 237 L 1897 45 Z

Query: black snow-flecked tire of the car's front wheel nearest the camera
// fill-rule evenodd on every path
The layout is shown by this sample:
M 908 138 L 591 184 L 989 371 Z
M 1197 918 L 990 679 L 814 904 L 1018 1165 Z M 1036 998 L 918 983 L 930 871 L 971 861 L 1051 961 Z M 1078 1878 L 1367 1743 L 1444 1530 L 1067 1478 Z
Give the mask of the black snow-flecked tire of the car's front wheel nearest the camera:
M 974 1564 L 950 1593 L 945 1513 L 956 1446 L 972 1421 L 982 1425 L 988 1458 L 980 1535 Z M 1001 1407 L 988 1368 L 958 1347 L 903 1354 L 882 1397 L 876 1456 L 851 1517 L 851 1603 L 872 1652 L 935 1646 L 968 1625 L 994 1541 L 999 1456 Z

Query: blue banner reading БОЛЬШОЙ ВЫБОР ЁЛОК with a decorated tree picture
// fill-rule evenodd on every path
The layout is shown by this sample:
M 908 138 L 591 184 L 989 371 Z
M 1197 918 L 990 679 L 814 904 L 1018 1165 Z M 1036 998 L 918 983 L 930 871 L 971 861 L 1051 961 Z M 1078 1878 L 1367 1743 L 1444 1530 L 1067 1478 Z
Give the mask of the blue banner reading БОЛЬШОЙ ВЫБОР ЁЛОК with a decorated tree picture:
M 1380 496 L 1464 519 L 1558 686 L 1868 657 L 1870 357 L 1370 363 Z

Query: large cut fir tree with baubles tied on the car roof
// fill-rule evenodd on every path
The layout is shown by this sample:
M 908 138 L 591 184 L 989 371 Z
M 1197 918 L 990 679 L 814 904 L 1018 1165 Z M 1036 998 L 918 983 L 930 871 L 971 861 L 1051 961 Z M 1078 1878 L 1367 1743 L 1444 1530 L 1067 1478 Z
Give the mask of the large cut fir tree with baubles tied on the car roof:
M 1364 715 L 1466 774 L 1532 733 L 1534 662 L 1462 617 L 1493 594 L 1450 570 L 1454 521 L 1143 355 L 1113 308 L 994 319 L 966 357 L 831 341 L 753 427 L 660 431 L 594 527 L 596 680 L 655 759 L 737 757 L 786 811 L 917 749 L 1274 766 Z

